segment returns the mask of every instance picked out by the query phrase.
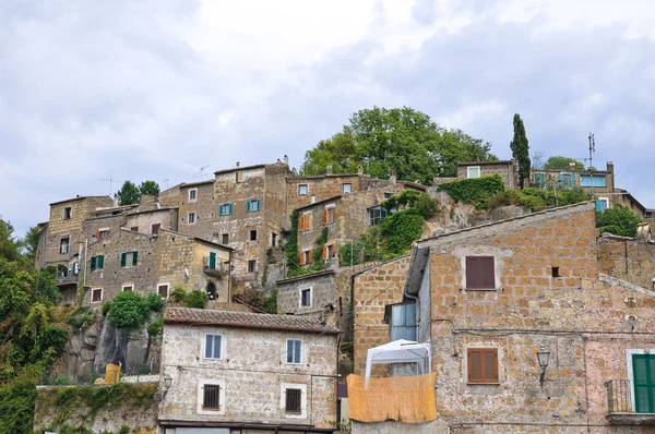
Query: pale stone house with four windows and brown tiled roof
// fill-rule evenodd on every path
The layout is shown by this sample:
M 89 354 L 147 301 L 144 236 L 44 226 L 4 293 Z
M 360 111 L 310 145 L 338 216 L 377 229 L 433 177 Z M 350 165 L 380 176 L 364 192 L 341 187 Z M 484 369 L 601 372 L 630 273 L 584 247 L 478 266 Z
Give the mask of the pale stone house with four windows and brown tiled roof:
M 166 434 L 332 433 L 338 330 L 315 320 L 168 308 Z

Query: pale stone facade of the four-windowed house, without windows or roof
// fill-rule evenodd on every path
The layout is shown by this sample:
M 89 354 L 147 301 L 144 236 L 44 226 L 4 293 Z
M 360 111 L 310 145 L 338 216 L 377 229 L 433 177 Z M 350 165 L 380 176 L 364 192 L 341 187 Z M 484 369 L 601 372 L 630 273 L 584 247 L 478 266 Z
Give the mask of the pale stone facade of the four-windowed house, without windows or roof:
M 205 333 L 223 335 L 223 360 L 203 359 Z M 285 363 L 287 338 L 302 339 L 301 365 Z M 336 421 L 334 335 L 166 324 L 163 367 L 164 375 L 172 377 L 162 402 L 163 422 L 237 421 L 329 427 Z M 224 382 L 225 405 L 221 412 L 199 411 L 199 387 L 203 381 Z M 306 388 L 303 415 L 285 415 L 281 405 L 283 384 Z

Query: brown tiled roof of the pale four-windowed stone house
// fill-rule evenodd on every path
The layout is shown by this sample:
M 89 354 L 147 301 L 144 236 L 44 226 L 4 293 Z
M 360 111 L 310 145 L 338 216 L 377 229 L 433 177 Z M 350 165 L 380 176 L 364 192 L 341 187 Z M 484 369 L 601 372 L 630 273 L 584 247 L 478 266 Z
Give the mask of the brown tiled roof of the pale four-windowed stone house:
M 211 309 L 167 308 L 165 324 L 205 324 L 225 327 L 257 328 L 266 330 L 305 331 L 338 335 L 338 329 L 319 323 L 315 318 L 265 313 L 229 312 Z

